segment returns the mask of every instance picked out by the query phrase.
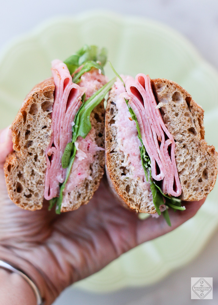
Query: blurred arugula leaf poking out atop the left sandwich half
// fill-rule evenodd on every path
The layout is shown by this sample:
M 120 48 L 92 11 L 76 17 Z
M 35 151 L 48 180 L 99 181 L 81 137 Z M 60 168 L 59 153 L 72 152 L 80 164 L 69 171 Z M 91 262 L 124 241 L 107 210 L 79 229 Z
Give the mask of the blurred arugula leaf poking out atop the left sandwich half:
M 107 60 L 107 50 L 106 48 L 98 49 L 96 45 L 84 45 L 76 54 L 68 57 L 64 63 L 70 74 L 73 74 L 79 66 L 89 62 L 99 62 L 99 65 L 103 67 Z M 90 70 L 90 69 L 89 69 Z M 88 71 L 89 71 L 88 70 Z

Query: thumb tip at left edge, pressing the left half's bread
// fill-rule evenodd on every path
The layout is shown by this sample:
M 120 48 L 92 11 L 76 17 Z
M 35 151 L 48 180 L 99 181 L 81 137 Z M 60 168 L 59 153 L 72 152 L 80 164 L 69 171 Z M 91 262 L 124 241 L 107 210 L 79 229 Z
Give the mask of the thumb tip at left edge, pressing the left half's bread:
M 7 155 L 13 151 L 11 126 L 0 130 L 0 164 L 5 162 Z

